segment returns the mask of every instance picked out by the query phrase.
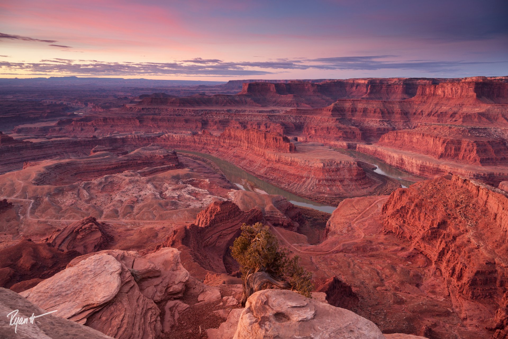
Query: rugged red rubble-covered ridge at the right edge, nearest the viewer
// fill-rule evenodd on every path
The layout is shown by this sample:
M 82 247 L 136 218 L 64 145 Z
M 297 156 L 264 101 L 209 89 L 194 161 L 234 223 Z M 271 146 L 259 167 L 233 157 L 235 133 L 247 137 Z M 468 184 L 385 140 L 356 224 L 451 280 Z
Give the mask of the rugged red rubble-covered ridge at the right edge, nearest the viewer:
M 485 323 L 505 307 L 499 303 L 508 278 L 507 211 L 506 193 L 453 175 L 392 193 L 383 207 L 384 229 L 432 262 L 464 320 Z M 482 311 L 472 300 L 482 302 Z M 498 324 L 505 323 L 501 318 Z

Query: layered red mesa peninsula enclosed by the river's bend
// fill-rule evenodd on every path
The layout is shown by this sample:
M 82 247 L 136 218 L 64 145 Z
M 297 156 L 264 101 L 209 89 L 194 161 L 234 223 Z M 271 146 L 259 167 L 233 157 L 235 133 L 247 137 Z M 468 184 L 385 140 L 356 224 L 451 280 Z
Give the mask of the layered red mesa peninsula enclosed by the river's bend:
M 230 134 L 236 137 L 223 137 Z M 354 159 L 329 148 L 301 145 L 293 152 L 289 140 L 283 138 L 277 139 L 277 148 L 271 143 L 257 147 L 241 141 L 251 135 L 260 134 L 249 130 L 227 130 L 221 136 L 166 134 L 159 142 L 167 147 L 209 153 L 277 187 L 310 195 L 314 200 L 371 194 L 382 185 L 368 177 Z M 266 137 L 262 140 L 265 142 Z

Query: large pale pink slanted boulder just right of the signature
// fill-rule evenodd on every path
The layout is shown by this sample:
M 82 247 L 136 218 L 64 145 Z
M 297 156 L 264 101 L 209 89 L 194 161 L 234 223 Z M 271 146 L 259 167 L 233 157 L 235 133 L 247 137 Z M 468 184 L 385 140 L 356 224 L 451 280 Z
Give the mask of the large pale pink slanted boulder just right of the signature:
M 47 311 L 58 310 L 59 317 L 117 339 L 148 339 L 161 333 L 160 310 L 140 292 L 129 269 L 110 255 L 86 258 L 21 295 Z

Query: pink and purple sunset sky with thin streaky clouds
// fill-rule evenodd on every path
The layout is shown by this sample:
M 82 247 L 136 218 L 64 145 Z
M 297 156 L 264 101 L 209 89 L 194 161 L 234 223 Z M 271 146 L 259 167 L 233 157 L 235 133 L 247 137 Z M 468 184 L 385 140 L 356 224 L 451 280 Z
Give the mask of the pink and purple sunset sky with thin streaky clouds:
M 0 77 L 506 76 L 506 18 L 506 0 L 0 0 Z

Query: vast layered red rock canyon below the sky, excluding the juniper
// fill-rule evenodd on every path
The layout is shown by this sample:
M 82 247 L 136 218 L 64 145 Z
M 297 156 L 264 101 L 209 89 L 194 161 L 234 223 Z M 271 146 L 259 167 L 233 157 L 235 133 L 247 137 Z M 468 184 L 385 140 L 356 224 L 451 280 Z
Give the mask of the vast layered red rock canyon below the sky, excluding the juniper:
M 21 80 L 0 82 L 0 306 L 58 310 L 34 331 L 508 338 L 508 77 Z M 257 222 L 312 298 L 240 305 L 230 246 Z

